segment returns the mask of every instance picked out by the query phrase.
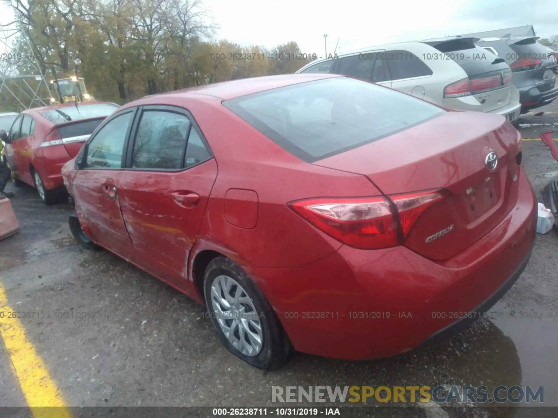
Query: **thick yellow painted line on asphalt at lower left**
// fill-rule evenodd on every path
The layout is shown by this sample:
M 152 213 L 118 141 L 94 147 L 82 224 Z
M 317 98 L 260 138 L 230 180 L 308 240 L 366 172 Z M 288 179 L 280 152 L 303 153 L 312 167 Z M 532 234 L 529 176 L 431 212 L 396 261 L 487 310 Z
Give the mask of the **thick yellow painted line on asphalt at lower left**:
M 45 363 L 27 339 L 23 324 L 18 318 L 9 316 L 9 312 L 15 312 L 15 309 L 8 304 L 6 291 L 0 284 L 0 336 L 33 417 L 71 418 L 62 394 L 49 376 Z M 5 379 L 2 380 L 6 383 Z M 56 409 L 47 408 L 53 406 Z

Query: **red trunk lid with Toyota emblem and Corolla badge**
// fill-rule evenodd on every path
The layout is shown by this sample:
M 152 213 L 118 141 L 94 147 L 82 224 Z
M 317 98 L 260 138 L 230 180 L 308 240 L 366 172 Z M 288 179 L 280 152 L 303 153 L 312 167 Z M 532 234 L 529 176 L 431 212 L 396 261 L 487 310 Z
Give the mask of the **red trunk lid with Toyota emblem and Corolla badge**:
M 447 260 L 492 231 L 515 206 L 518 140 L 502 116 L 450 111 L 314 164 L 363 174 L 384 195 L 443 189 L 445 198 L 420 215 L 405 246 Z M 492 172 L 490 152 L 498 157 Z

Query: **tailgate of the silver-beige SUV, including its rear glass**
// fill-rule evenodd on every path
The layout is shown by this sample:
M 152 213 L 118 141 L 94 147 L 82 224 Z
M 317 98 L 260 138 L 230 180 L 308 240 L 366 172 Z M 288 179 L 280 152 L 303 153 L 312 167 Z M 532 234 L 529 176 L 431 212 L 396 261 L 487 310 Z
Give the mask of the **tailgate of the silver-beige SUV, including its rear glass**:
M 432 46 L 459 64 L 481 105 L 479 111 L 490 112 L 507 106 L 512 99 L 512 72 L 501 56 L 475 45 L 476 39 L 454 39 Z

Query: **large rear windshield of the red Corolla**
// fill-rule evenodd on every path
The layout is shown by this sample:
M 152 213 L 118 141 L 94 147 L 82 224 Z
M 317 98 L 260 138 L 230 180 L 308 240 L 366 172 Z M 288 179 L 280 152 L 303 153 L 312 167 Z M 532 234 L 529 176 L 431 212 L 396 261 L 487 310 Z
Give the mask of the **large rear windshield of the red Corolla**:
M 304 82 L 223 104 L 306 162 L 342 153 L 446 113 L 404 93 L 349 77 Z

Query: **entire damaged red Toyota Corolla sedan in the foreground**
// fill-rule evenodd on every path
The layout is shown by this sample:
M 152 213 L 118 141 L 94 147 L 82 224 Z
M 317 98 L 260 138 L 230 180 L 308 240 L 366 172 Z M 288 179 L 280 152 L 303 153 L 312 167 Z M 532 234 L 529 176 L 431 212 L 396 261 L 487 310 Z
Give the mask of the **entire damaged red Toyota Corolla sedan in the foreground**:
M 535 239 L 521 149 L 503 116 L 296 74 L 136 100 L 63 172 L 81 244 L 205 303 L 230 352 L 272 369 L 478 319 Z

